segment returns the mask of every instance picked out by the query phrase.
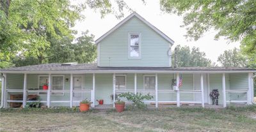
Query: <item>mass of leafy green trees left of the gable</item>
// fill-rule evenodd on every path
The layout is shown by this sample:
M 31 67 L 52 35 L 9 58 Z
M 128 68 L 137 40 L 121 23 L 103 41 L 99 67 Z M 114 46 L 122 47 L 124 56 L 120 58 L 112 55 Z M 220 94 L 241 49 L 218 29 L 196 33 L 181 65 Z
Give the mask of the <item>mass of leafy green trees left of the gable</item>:
M 72 27 L 84 18 L 81 12 L 89 7 L 100 11 L 102 17 L 113 13 L 120 18 L 124 9 L 130 10 L 123 0 L 4 0 L 0 4 L 0 60 L 16 66 L 93 62 L 96 47 L 88 31 L 72 43 L 76 34 Z M 113 4 L 118 8 L 113 8 Z

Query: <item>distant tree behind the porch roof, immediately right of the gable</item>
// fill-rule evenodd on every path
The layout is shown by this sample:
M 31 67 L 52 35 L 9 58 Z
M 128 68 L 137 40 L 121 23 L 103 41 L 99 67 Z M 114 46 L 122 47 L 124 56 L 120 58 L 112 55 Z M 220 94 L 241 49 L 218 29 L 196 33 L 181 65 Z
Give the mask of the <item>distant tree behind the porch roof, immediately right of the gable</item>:
M 199 48 L 193 47 L 190 49 L 188 46 L 180 47 L 180 45 L 177 45 L 174 54 L 175 52 L 177 54 L 177 66 L 179 67 L 214 66 L 214 63 L 205 57 L 205 52 L 200 52 Z M 174 59 L 174 57 L 172 58 Z

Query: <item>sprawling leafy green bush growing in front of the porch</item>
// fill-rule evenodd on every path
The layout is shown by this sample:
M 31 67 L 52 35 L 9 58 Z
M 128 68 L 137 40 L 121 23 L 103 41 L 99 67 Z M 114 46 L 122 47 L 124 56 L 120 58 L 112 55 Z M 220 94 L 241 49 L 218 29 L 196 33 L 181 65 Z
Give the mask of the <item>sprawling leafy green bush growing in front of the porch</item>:
M 122 94 L 119 94 L 118 97 L 126 98 L 127 100 L 132 101 L 132 105 L 136 108 L 145 108 L 146 105 L 143 100 L 150 100 L 153 98 L 153 96 L 151 96 L 149 93 L 143 95 L 138 92 L 136 94 L 134 94 L 133 92 L 124 92 Z

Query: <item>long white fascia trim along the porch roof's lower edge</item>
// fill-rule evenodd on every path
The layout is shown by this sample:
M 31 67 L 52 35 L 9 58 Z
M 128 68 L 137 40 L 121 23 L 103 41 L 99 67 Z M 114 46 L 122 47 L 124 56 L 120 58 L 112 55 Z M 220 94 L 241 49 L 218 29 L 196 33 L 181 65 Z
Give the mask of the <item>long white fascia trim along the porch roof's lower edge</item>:
M 119 67 L 119 66 L 113 66 Z M 140 66 L 143 67 L 143 66 Z M 156 66 L 159 67 L 159 66 Z M 189 71 L 173 71 L 173 70 L 71 70 L 71 71 L 0 71 L 1 73 L 37 73 L 37 74 L 70 74 L 70 73 L 163 73 L 163 74 L 170 74 L 170 73 L 254 73 L 256 70 L 223 70 L 223 71 L 198 71 L 198 70 L 189 70 Z

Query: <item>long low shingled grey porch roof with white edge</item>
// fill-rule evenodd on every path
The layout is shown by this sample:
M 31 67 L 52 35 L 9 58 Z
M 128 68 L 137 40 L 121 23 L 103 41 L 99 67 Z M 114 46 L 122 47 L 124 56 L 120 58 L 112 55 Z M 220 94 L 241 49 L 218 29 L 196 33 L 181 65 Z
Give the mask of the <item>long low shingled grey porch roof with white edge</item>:
M 163 71 L 163 72 L 177 72 L 177 71 L 243 71 L 243 72 L 256 72 L 255 69 L 252 68 L 241 68 L 241 67 L 179 67 L 179 68 L 171 68 L 171 67 L 99 67 L 97 64 L 76 64 L 70 66 L 63 66 L 60 63 L 51 63 L 51 64 L 38 64 L 33 66 L 21 66 L 15 68 L 6 68 L 1 69 L 1 73 L 46 73 L 46 72 L 54 72 L 54 71 L 63 71 L 63 72 L 80 72 L 80 71 Z

